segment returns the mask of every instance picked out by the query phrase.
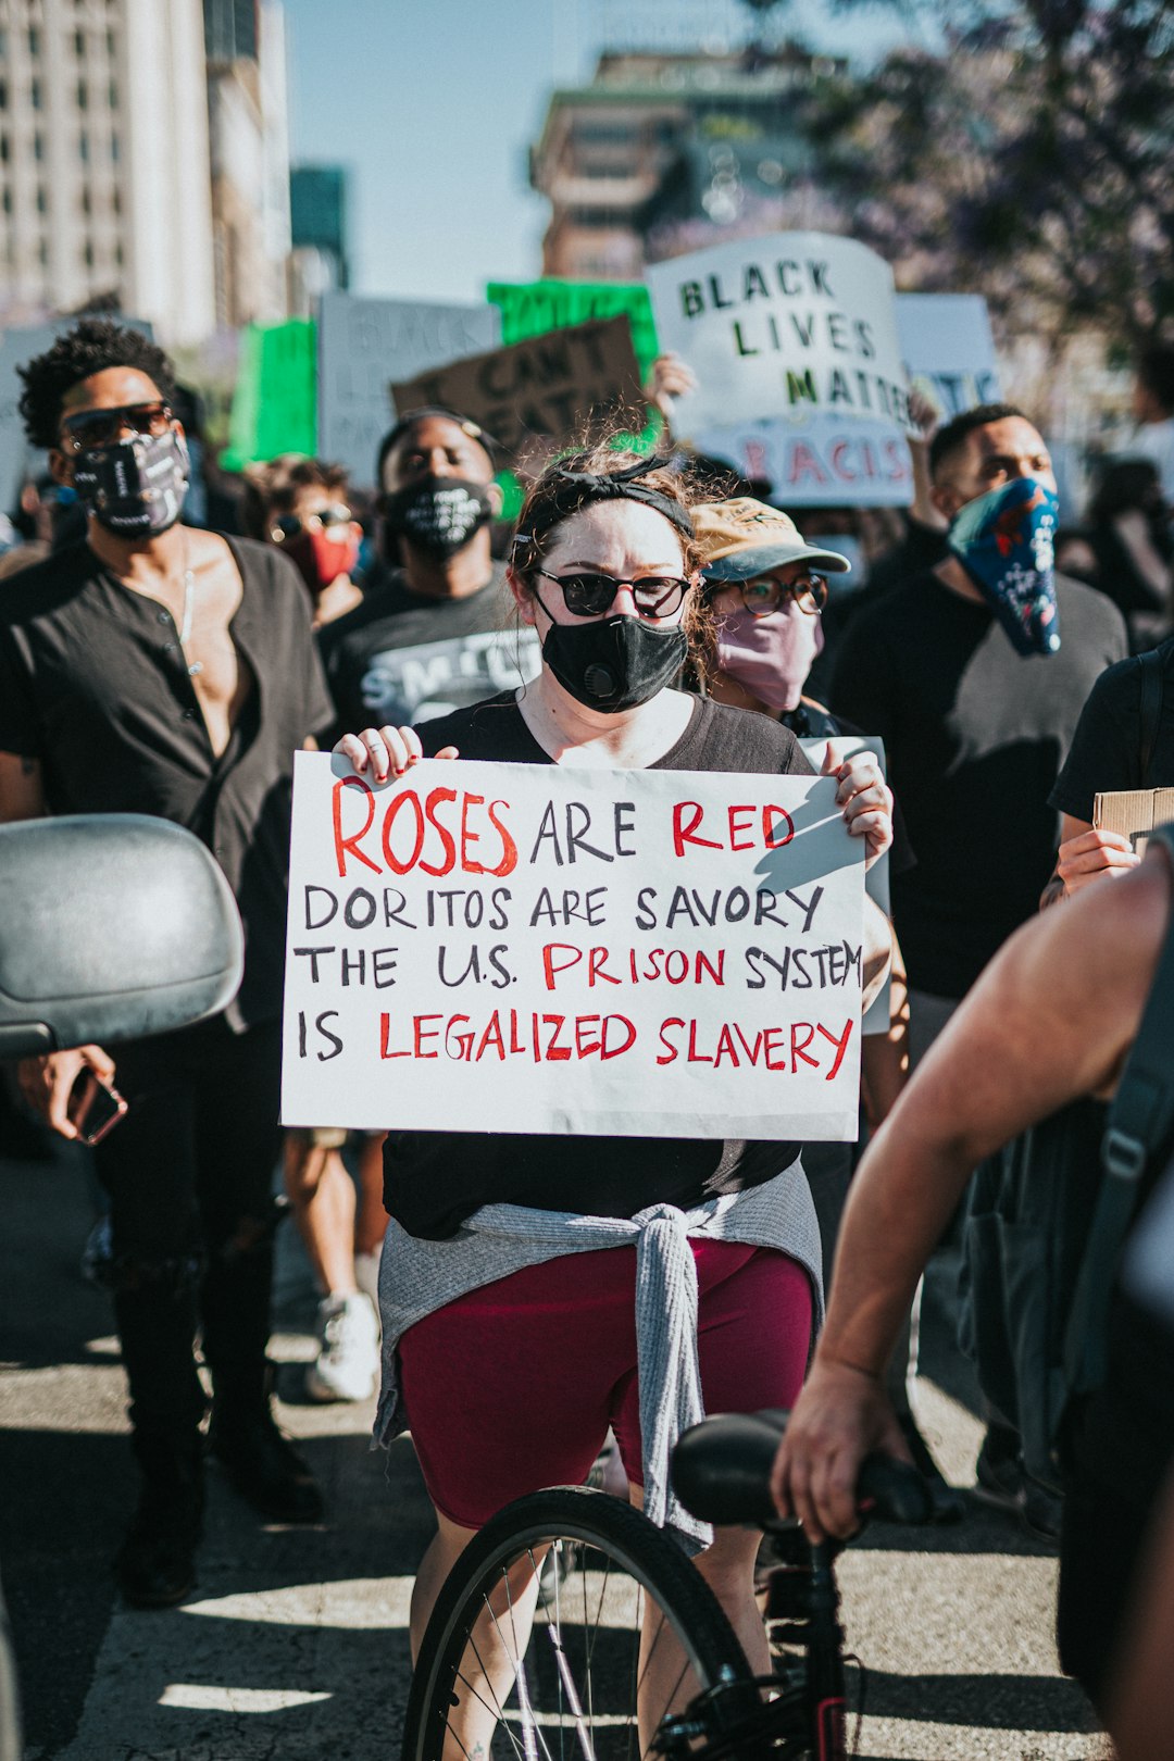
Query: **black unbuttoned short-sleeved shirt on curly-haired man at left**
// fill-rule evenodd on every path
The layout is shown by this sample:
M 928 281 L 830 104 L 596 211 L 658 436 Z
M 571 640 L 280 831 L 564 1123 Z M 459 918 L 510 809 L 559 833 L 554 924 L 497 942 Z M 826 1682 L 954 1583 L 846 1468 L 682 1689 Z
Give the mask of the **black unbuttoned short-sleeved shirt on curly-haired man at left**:
M 225 542 L 253 690 L 220 757 L 171 613 L 84 542 L 4 583 L 0 752 L 40 761 L 53 814 L 158 814 L 202 838 L 245 923 L 239 1030 L 282 1013 L 294 752 L 329 727 L 331 701 L 301 576 L 271 544 Z

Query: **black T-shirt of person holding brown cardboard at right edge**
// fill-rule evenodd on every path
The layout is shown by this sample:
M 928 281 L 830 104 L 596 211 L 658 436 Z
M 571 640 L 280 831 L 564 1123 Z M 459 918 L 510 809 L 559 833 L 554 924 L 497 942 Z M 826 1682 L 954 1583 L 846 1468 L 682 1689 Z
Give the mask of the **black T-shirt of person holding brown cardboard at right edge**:
M 1051 805 L 1093 822 L 1093 796 L 1116 789 L 1165 789 L 1174 784 L 1174 637 L 1162 643 L 1162 715 L 1141 773 L 1141 678 L 1137 657 L 1102 673 L 1081 710 L 1072 748 L 1051 792 Z

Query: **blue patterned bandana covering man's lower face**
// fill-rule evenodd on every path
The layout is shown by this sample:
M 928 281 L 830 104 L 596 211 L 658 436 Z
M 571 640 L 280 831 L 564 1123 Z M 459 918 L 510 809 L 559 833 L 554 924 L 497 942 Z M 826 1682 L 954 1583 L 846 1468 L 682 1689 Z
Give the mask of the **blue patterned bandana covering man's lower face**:
M 1054 655 L 1060 611 L 1053 537 L 1060 500 L 1038 477 L 1016 477 L 966 502 L 949 548 L 1021 655 Z

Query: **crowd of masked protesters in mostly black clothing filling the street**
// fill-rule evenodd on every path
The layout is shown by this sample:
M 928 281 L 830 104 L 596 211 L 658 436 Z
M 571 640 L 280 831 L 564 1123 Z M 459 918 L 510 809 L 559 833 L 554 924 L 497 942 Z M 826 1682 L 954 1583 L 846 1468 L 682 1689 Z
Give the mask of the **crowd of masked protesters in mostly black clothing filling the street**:
M 665 412 L 674 373 L 651 387 Z M 246 928 L 224 1016 L 26 1060 L 23 1102 L 16 1081 L 4 1101 L 14 1129 L 23 1104 L 21 1129 L 39 1116 L 65 1138 L 84 1069 L 132 1102 L 93 1150 L 95 1264 L 143 1476 L 116 1562 L 125 1599 L 192 1590 L 206 1449 L 266 1518 L 322 1513 L 271 1411 L 278 1166 L 322 1291 L 312 1398 L 377 1389 L 382 1310 L 378 1430 L 407 1414 L 438 1516 L 417 1634 L 470 1532 L 521 1492 L 583 1481 L 609 1430 L 632 1497 L 681 1523 L 635 1393 L 641 1328 L 660 1317 L 630 1323 L 634 1243 L 665 1208 L 695 1263 L 704 1405 L 799 1402 L 780 1506 L 813 1534 L 848 1532 L 855 1467 L 880 1442 L 914 1455 L 940 1522 L 963 1520 L 917 1426 L 912 1347 L 919 1275 L 952 1233 L 986 1398 L 975 1492 L 1060 1539 L 1061 1661 L 1114 1722 L 1114 1643 L 1174 1451 L 1169 1319 L 1114 1294 L 1114 1393 L 1081 1388 L 1060 1416 L 1058 1472 L 1012 1335 L 1035 1324 L 1016 1293 L 1054 1229 L 1023 1222 L 1046 1178 L 1038 1129 L 1060 1115 L 1051 1190 L 1079 1266 L 1105 1106 L 1170 916 L 1170 847 L 1142 861 L 1097 824 L 1097 796 L 1174 784 L 1174 350 L 1139 363 L 1137 444 L 1098 467 L 1082 519 L 1014 403 L 936 430 L 926 412 L 899 519 L 773 505 L 665 423 L 653 456 L 547 461 L 503 528 L 509 460 L 445 409 L 389 428 L 370 502 L 336 465 L 285 456 L 250 470 L 234 505 L 204 454 L 192 518 L 181 391 L 153 343 L 81 321 L 23 382 L 49 475 L 0 556 L 0 821 L 172 819 L 213 851 Z M 859 1171 L 848 1145 L 558 1139 L 452 1118 L 428 1132 L 389 1118 L 385 1139 L 324 1120 L 283 1139 L 292 755 L 315 747 L 377 778 L 421 755 L 834 777 L 848 831 L 891 870 L 891 921 L 869 903 L 864 933 L 866 1002 L 885 974 L 891 988 L 866 1023 Z M 1149 1146 L 1137 1210 L 1170 1148 Z M 479 1217 L 505 1208 L 486 1261 Z M 556 1213 L 598 1227 L 526 1222 Z M 1054 1337 L 1033 1349 L 1061 1370 Z M 1116 1446 L 1123 1432 L 1135 1448 Z M 755 1655 L 752 1539 L 718 1532 L 699 1566 Z

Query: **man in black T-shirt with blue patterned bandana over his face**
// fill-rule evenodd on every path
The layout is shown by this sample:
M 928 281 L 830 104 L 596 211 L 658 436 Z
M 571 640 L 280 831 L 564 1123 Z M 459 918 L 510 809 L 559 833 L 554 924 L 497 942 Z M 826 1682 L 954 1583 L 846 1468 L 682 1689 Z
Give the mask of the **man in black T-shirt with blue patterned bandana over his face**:
M 1097 676 L 1126 652 L 1116 606 L 1054 574 L 1056 479 L 1021 410 L 954 417 L 929 475 L 949 556 L 859 613 L 831 689 L 834 713 L 885 741 L 917 852 L 892 877 L 914 1067 L 1037 910 L 1056 851 L 1047 798 Z M 979 1490 L 991 1502 L 1023 1507 L 1016 1455 L 1014 1433 L 987 1433 Z M 1046 1518 L 1040 1506 L 1040 1529 Z

